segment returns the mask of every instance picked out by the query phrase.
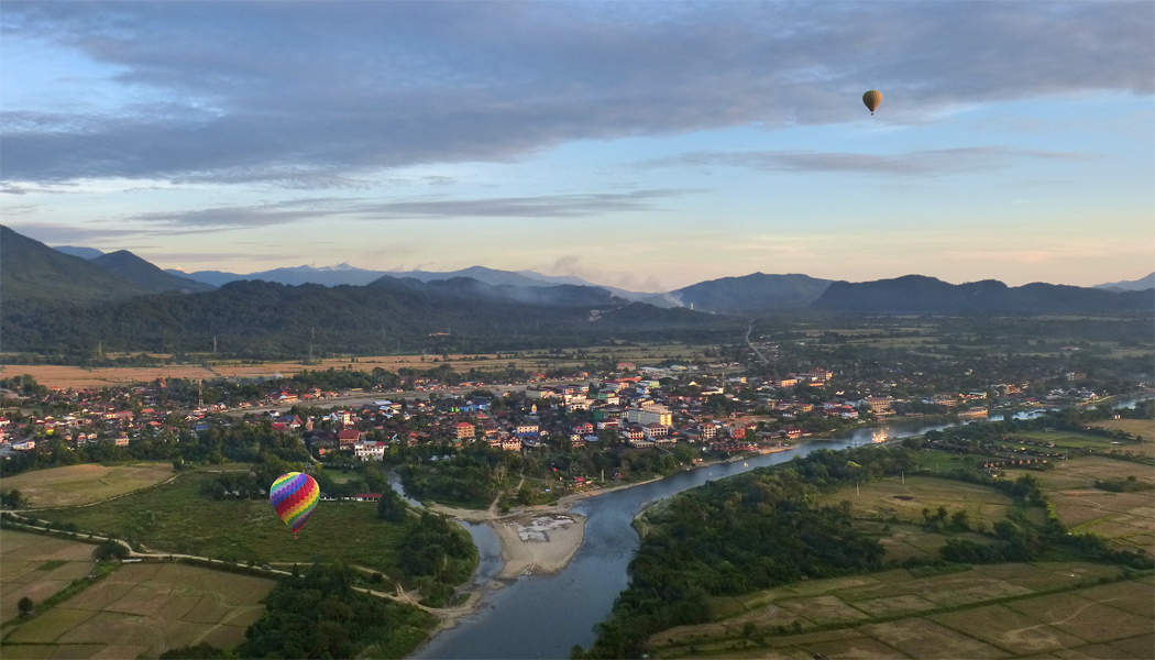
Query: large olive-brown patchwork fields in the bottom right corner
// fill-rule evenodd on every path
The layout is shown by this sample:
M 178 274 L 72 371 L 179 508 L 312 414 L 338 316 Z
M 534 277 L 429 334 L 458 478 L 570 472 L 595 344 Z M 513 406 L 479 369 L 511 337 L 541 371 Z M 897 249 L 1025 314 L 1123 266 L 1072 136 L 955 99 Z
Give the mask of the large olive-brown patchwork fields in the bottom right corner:
M 650 646 L 662 658 L 1150 658 L 1155 581 L 1122 577 L 1049 562 L 796 583 L 713 599 L 713 622 Z

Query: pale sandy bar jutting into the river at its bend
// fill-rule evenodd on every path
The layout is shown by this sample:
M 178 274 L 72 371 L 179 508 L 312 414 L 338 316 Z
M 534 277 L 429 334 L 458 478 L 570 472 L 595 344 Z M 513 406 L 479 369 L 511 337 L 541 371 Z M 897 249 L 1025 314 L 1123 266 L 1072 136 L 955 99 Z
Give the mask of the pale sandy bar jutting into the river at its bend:
M 560 571 L 586 536 L 586 517 L 576 513 L 520 516 L 492 525 L 506 562 L 502 579 Z

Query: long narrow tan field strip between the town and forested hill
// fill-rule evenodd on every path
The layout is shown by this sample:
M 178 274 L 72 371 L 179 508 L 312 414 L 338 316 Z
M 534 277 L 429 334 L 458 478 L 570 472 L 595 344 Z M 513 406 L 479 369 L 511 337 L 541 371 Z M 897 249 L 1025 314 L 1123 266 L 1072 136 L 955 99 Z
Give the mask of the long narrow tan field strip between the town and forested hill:
M 456 371 L 479 369 L 483 371 L 505 370 L 509 365 L 527 371 L 578 366 L 591 361 L 618 359 L 641 364 L 665 359 L 701 359 L 706 346 L 685 343 L 662 343 L 641 346 L 597 346 L 568 349 L 559 354 L 534 350 L 502 354 L 450 354 L 442 358 L 431 355 L 381 355 L 359 357 L 336 357 L 313 363 L 300 361 L 241 362 L 218 361 L 204 356 L 200 364 L 171 364 L 162 366 L 70 366 L 57 364 L 8 364 L 0 365 L 0 378 L 30 375 L 37 383 L 49 387 L 99 388 L 131 383 L 156 380 L 157 378 L 213 379 L 222 377 L 256 378 L 288 377 L 301 370 L 353 369 L 387 371 L 400 369 L 426 370 L 448 365 Z

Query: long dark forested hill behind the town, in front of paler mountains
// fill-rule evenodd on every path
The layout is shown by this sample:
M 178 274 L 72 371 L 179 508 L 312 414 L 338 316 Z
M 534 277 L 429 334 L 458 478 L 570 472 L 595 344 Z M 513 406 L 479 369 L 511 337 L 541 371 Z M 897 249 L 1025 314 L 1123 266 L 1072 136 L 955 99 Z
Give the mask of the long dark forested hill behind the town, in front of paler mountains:
M 642 334 L 648 340 L 686 339 L 721 332 L 729 322 L 628 303 L 599 289 L 564 287 L 543 303 L 485 287 L 392 277 L 333 288 L 241 281 L 203 294 L 99 305 L 6 304 L 2 331 L 6 350 L 47 355 L 90 356 L 98 343 L 105 350 L 207 351 L 216 338 L 223 355 L 300 357 L 311 344 L 318 355 L 364 355 L 579 346 Z

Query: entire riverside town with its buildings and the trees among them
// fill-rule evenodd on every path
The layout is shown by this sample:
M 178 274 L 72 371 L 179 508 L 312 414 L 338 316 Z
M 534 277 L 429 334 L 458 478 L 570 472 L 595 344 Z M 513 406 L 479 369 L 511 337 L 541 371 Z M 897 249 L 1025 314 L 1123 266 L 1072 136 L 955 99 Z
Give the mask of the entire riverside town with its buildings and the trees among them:
M 617 361 L 549 372 L 474 371 L 472 380 L 444 366 L 393 373 L 358 371 L 356 363 L 288 378 L 159 378 L 103 390 L 49 388 L 12 376 L 0 391 L 0 465 L 14 474 L 82 458 L 224 460 L 228 447 L 199 457 L 180 444 L 214 429 L 232 438 L 253 429 L 298 442 L 301 457 L 329 468 L 404 466 L 400 474 L 413 495 L 484 507 L 499 487 L 465 488 L 472 495 L 462 496 L 459 484 L 453 496 L 422 475 L 484 454 L 486 473 L 505 462 L 529 479 L 522 502 L 549 502 L 888 420 L 985 418 L 1089 406 L 1120 393 L 1061 365 L 1034 380 L 949 392 L 937 390 L 938 376 L 893 368 L 866 378 L 849 376 L 845 365 L 772 376 L 759 361 L 780 359 L 778 343 L 747 348 L 720 351 L 735 358 L 728 362 Z M 379 496 L 329 485 L 338 492 L 326 497 Z

